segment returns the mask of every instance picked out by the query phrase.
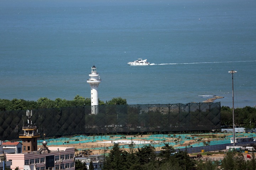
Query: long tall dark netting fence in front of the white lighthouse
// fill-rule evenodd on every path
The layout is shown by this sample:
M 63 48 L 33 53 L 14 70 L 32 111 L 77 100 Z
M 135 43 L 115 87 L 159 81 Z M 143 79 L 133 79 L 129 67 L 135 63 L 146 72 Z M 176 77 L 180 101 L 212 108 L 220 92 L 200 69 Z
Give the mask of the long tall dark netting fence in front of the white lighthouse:
M 62 136 L 85 133 L 200 131 L 220 129 L 220 102 L 136 104 L 35 109 L 38 133 Z M 15 139 L 27 126 L 26 111 L 0 112 L 0 139 Z

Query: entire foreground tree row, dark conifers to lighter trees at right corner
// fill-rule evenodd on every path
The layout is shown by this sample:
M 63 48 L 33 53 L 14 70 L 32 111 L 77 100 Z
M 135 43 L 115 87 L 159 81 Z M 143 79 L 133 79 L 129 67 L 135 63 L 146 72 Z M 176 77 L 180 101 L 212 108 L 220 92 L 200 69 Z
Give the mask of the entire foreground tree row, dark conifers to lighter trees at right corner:
M 190 159 L 187 152 L 175 152 L 168 143 L 156 154 L 151 145 L 135 149 L 129 145 L 129 151 L 120 149 L 118 143 L 113 145 L 105 157 L 103 170 L 255 170 L 256 158 L 254 153 L 245 160 L 240 152 L 227 152 L 223 159 L 210 158 Z

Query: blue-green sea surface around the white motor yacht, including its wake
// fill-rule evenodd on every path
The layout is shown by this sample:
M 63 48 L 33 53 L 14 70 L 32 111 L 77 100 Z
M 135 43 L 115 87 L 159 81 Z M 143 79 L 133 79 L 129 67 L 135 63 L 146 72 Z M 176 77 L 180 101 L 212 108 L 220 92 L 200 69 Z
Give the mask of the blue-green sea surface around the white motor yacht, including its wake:
M 255 0 L 1 0 L 0 98 L 256 105 Z M 147 59 L 150 66 L 128 66 Z

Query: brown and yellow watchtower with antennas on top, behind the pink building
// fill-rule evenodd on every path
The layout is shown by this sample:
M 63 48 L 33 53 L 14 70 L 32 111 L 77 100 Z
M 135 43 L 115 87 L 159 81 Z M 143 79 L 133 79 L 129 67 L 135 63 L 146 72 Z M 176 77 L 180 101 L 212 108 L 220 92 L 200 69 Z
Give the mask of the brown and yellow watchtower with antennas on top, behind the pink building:
M 22 139 L 22 153 L 24 152 L 33 152 L 37 151 L 37 138 L 40 137 L 40 134 L 37 133 L 37 127 L 32 126 L 32 111 L 27 110 L 28 117 L 28 126 L 23 126 L 23 134 L 20 134 L 19 137 Z

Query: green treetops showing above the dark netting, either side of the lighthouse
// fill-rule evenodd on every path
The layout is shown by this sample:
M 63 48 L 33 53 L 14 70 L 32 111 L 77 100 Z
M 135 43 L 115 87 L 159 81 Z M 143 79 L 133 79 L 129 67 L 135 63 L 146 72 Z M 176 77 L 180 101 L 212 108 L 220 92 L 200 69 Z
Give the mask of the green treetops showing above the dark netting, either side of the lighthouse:
M 99 100 L 99 105 L 123 105 L 127 104 L 126 99 L 121 97 L 112 98 L 110 101 L 103 102 Z M 12 110 L 31 110 L 31 109 L 42 109 L 42 108 L 61 108 L 61 107 L 72 107 L 72 106 L 90 106 L 91 99 L 85 98 L 79 95 L 74 97 L 74 100 L 66 100 L 56 98 L 50 100 L 47 97 L 41 97 L 37 101 L 27 101 L 24 99 L 14 98 L 12 100 L 0 99 L 0 111 L 12 111 Z

